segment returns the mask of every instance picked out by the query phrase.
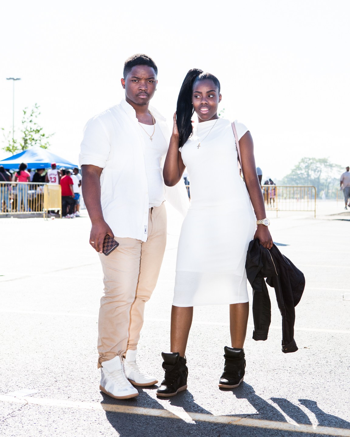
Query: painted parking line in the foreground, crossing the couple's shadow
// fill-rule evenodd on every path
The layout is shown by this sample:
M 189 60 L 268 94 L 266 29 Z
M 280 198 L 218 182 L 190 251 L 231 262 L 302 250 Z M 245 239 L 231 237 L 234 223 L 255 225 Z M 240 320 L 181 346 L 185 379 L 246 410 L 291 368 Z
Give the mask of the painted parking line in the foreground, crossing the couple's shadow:
M 91 409 L 108 411 L 119 414 L 135 414 L 140 416 L 152 416 L 161 417 L 164 419 L 190 419 L 195 422 L 210 422 L 210 423 L 222 423 L 232 426 L 242 426 L 242 427 L 254 427 L 254 428 L 264 428 L 270 430 L 280 430 L 285 432 L 299 432 L 305 434 L 316 434 L 316 435 L 331 435 L 340 437 L 350 437 L 350 430 L 343 428 L 332 428 L 332 427 L 315 427 L 313 425 L 305 425 L 299 423 L 287 423 L 287 422 L 277 422 L 273 420 L 260 420 L 260 419 L 250 419 L 239 416 L 213 416 L 211 414 L 203 413 L 190 413 L 185 412 L 184 415 L 172 413 L 169 410 L 161 408 L 144 408 L 135 406 L 123 406 L 116 404 L 104 404 L 99 402 L 77 402 L 69 401 L 65 399 L 49 399 L 49 398 L 16 398 L 10 395 L 0 395 L 0 401 L 3 402 L 14 402 L 21 404 L 32 404 L 32 405 L 42 405 L 42 406 L 56 406 L 60 408 L 76 408 L 76 409 Z M 23 413 L 25 414 L 25 413 Z

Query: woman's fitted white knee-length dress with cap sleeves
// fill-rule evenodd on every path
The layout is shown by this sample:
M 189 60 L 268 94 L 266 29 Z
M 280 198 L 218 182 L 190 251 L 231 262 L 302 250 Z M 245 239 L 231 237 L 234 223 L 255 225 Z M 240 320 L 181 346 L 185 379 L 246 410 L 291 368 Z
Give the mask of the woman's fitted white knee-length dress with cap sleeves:
M 245 258 L 256 218 L 239 176 L 231 122 L 219 118 L 206 137 L 215 122 L 198 123 L 181 149 L 191 203 L 179 238 L 175 306 L 248 302 Z M 240 139 L 248 129 L 235 124 Z

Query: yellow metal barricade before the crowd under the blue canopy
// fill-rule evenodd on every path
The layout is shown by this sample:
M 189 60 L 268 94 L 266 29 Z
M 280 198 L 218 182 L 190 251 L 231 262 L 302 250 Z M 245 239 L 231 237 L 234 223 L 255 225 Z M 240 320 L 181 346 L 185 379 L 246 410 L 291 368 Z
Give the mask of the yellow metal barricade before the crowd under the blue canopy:
M 61 186 L 38 182 L 1 182 L 0 215 L 42 214 L 59 211 L 62 217 Z

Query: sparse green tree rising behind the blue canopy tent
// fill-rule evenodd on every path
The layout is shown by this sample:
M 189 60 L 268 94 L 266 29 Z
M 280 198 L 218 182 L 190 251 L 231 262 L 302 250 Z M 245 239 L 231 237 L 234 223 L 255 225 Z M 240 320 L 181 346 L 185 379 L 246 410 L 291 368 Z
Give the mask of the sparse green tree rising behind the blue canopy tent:
M 28 108 L 23 110 L 23 118 L 21 122 L 21 139 L 20 141 L 10 138 L 11 133 L 4 135 L 6 146 L 3 147 L 5 152 L 10 152 L 12 155 L 23 150 L 27 150 L 31 146 L 39 146 L 42 149 L 48 149 L 50 146 L 49 138 L 54 134 L 46 135 L 43 128 L 38 124 L 37 118 L 41 114 L 39 105 L 35 103 L 33 108 L 28 111 Z M 4 128 L 2 128 L 4 131 Z

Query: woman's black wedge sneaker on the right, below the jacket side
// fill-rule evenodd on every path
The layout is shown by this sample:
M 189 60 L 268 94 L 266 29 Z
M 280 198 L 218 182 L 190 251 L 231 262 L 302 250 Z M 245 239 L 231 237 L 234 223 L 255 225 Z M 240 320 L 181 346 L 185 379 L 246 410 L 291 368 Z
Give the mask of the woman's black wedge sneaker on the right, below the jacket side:
M 219 387 L 236 388 L 243 381 L 245 374 L 244 350 L 225 346 L 224 351 L 225 367 L 219 381 Z

